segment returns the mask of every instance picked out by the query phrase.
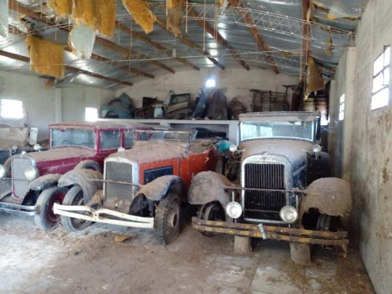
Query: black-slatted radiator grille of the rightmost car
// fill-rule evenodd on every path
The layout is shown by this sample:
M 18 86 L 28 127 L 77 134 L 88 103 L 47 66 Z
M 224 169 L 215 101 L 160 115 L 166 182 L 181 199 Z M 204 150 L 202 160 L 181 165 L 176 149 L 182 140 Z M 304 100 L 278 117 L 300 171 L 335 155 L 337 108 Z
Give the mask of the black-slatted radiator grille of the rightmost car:
M 285 189 L 284 165 L 279 163 L 245 164 L 245 188 Z M 285 192 L 244 192 L 244 216 L 249 219 L 280 221 L 279 211 L 286 205 Z

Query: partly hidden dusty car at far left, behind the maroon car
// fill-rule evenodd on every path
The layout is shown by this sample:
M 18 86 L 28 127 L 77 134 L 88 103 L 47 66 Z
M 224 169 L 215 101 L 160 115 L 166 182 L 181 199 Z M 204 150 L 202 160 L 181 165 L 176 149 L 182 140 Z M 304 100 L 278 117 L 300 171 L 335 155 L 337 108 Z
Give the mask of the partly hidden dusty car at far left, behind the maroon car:
M 37 128 L 0 126 L 0 164 L 12 155 L 34 151 L 37 133 Z

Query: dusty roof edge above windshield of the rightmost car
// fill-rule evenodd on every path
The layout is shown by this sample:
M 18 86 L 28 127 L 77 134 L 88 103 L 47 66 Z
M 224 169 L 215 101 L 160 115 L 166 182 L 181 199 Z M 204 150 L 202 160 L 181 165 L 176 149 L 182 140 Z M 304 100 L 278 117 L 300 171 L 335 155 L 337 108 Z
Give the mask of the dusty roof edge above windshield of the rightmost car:
M 314 111 L 280 111 L 280 112 L 251 112 L 240 114 L 240 122 L 259 122 L 259 121 L 313 121 L 320 117 L 319 112 Z

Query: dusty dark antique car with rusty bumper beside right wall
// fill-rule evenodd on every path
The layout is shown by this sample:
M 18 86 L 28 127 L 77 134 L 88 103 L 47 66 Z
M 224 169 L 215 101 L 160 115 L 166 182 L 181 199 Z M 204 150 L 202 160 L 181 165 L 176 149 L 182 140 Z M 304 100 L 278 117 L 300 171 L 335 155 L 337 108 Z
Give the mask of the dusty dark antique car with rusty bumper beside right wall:
M 226 176 L 202 172 L 192 181 L 188 201 L 200 207 L 193 226 L 206 236 L 345 246 L 347 232 L 319 232 L 337 231 L 351 209 L 348 183 L 329 177 L 319 113 L 249 113 L 239 120 L 241 142 L 230 147 Z

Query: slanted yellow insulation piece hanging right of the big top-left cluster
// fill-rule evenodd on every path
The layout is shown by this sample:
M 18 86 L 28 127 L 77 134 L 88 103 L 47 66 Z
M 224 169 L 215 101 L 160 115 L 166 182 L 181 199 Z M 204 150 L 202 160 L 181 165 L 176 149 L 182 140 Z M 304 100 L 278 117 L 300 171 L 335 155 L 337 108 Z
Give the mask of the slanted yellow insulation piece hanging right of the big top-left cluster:
M 135 23 L 142 27 L 146 34 L 154 29 L 155 15 L 149 9 L 149 4 L 144 0 L 122 0 Z

